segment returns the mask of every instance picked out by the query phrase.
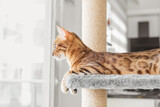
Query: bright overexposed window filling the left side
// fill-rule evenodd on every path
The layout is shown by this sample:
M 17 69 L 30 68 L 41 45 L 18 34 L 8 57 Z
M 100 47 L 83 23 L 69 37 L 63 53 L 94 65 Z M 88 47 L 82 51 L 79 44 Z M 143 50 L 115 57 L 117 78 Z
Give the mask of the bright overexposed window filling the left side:
M 0 107 L 48 107 L 49 0 L 0 0 Z

